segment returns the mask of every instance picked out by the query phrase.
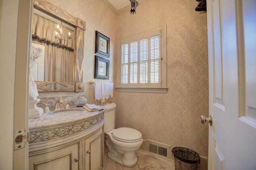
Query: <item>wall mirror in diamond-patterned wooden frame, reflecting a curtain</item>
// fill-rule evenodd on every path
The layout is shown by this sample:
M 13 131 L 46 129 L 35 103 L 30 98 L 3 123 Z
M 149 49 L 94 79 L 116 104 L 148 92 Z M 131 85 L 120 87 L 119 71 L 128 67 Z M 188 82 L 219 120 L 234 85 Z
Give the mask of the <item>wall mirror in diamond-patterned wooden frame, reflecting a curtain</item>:
M 84 91 L 85 21 L 44 0 L 34 0 L 33 22 L 32 46 L 44 51 L 42 62 L 38 60 L 30 70 L 38 92 Z

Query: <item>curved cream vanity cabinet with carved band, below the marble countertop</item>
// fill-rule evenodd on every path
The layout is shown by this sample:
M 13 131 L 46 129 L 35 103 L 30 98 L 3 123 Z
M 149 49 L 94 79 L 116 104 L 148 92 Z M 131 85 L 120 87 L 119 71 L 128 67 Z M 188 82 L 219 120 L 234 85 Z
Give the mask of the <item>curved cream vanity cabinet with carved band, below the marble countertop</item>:
M 29 170 L 104 170 L 103 114 L 30 129 Z

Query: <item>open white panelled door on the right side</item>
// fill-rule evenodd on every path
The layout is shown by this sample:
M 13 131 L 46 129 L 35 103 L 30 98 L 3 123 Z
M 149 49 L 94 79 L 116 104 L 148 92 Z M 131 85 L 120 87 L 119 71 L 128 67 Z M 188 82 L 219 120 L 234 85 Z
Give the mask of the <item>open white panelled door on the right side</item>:
M 256 170 L 256 0 L 207 0 L 208 170 Z

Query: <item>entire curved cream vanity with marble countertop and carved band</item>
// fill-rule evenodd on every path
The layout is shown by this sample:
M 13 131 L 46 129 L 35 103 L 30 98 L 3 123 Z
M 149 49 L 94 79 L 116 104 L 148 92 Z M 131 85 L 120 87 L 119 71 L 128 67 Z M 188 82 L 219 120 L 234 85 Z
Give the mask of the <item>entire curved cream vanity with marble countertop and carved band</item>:
M 71 107 L 29 119 L 29 170 L 103 170 L 103 113 Z

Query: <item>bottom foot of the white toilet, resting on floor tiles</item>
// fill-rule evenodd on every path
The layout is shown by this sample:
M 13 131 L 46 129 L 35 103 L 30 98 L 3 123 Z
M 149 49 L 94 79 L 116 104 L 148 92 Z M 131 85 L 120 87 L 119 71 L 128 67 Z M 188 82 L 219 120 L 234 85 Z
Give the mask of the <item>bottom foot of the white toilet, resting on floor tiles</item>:
M 108 157 L 124 166 L 132 167 L 137 163 L 137 156 L 135 151 L 124 151 L 124 154 L 118 153 L 114 154 L 108 151 Z

